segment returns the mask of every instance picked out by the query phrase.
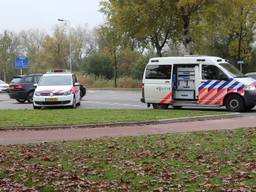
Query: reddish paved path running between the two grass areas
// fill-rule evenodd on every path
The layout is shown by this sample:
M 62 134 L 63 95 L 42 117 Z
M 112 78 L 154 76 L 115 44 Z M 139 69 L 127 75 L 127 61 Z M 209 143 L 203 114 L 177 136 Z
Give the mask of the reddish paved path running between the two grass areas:
M 230 119 L 167 123 L 158 125 L 71 128 L 56 130 L 0 131 L 0 144 L 25 144 L 62 140 L 80 140 L 84 138 L 123 137 L 174 132 L 192 132 L 201 130 L 223 130 L 256 127 L 255 116 Z

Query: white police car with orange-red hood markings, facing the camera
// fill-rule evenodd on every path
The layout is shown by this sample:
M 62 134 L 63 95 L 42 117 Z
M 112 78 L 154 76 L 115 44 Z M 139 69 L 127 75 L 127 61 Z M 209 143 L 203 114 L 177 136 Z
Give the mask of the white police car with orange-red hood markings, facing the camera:
M 33 107 L 80 105 L 80 83 L 75 74 L 55 70 L 44 74 L 38 82 L 33 95 Z

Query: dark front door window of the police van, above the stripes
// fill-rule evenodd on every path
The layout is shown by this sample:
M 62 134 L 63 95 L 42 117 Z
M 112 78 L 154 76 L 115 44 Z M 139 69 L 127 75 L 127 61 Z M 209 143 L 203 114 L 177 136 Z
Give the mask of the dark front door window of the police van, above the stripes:
M 202 79 L 226 80 L 226 79 L 228 79 L 228 77 L 217 66 L 202 65 Z

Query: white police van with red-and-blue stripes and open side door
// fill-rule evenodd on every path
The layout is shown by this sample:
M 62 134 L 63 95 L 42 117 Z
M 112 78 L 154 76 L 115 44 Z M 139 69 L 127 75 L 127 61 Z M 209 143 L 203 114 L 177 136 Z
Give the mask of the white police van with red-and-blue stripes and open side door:
M 229 111 L 247 111 L 256 105 L 256 81 L 220 57 L 151 58 L 143 75 L 141 101 L 154 109 L 225 106 Z

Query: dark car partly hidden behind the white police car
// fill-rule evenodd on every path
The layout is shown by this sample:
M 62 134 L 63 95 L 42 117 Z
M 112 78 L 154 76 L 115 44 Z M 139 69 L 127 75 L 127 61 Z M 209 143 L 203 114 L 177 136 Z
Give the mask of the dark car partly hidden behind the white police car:
M 14 76 L 9 84 L 8 94 L 11 99 L 16 99 L 19 103 L 33 102 L 35 91 L 34 84 L 37 84 L 42 74 L 29 74 Z

